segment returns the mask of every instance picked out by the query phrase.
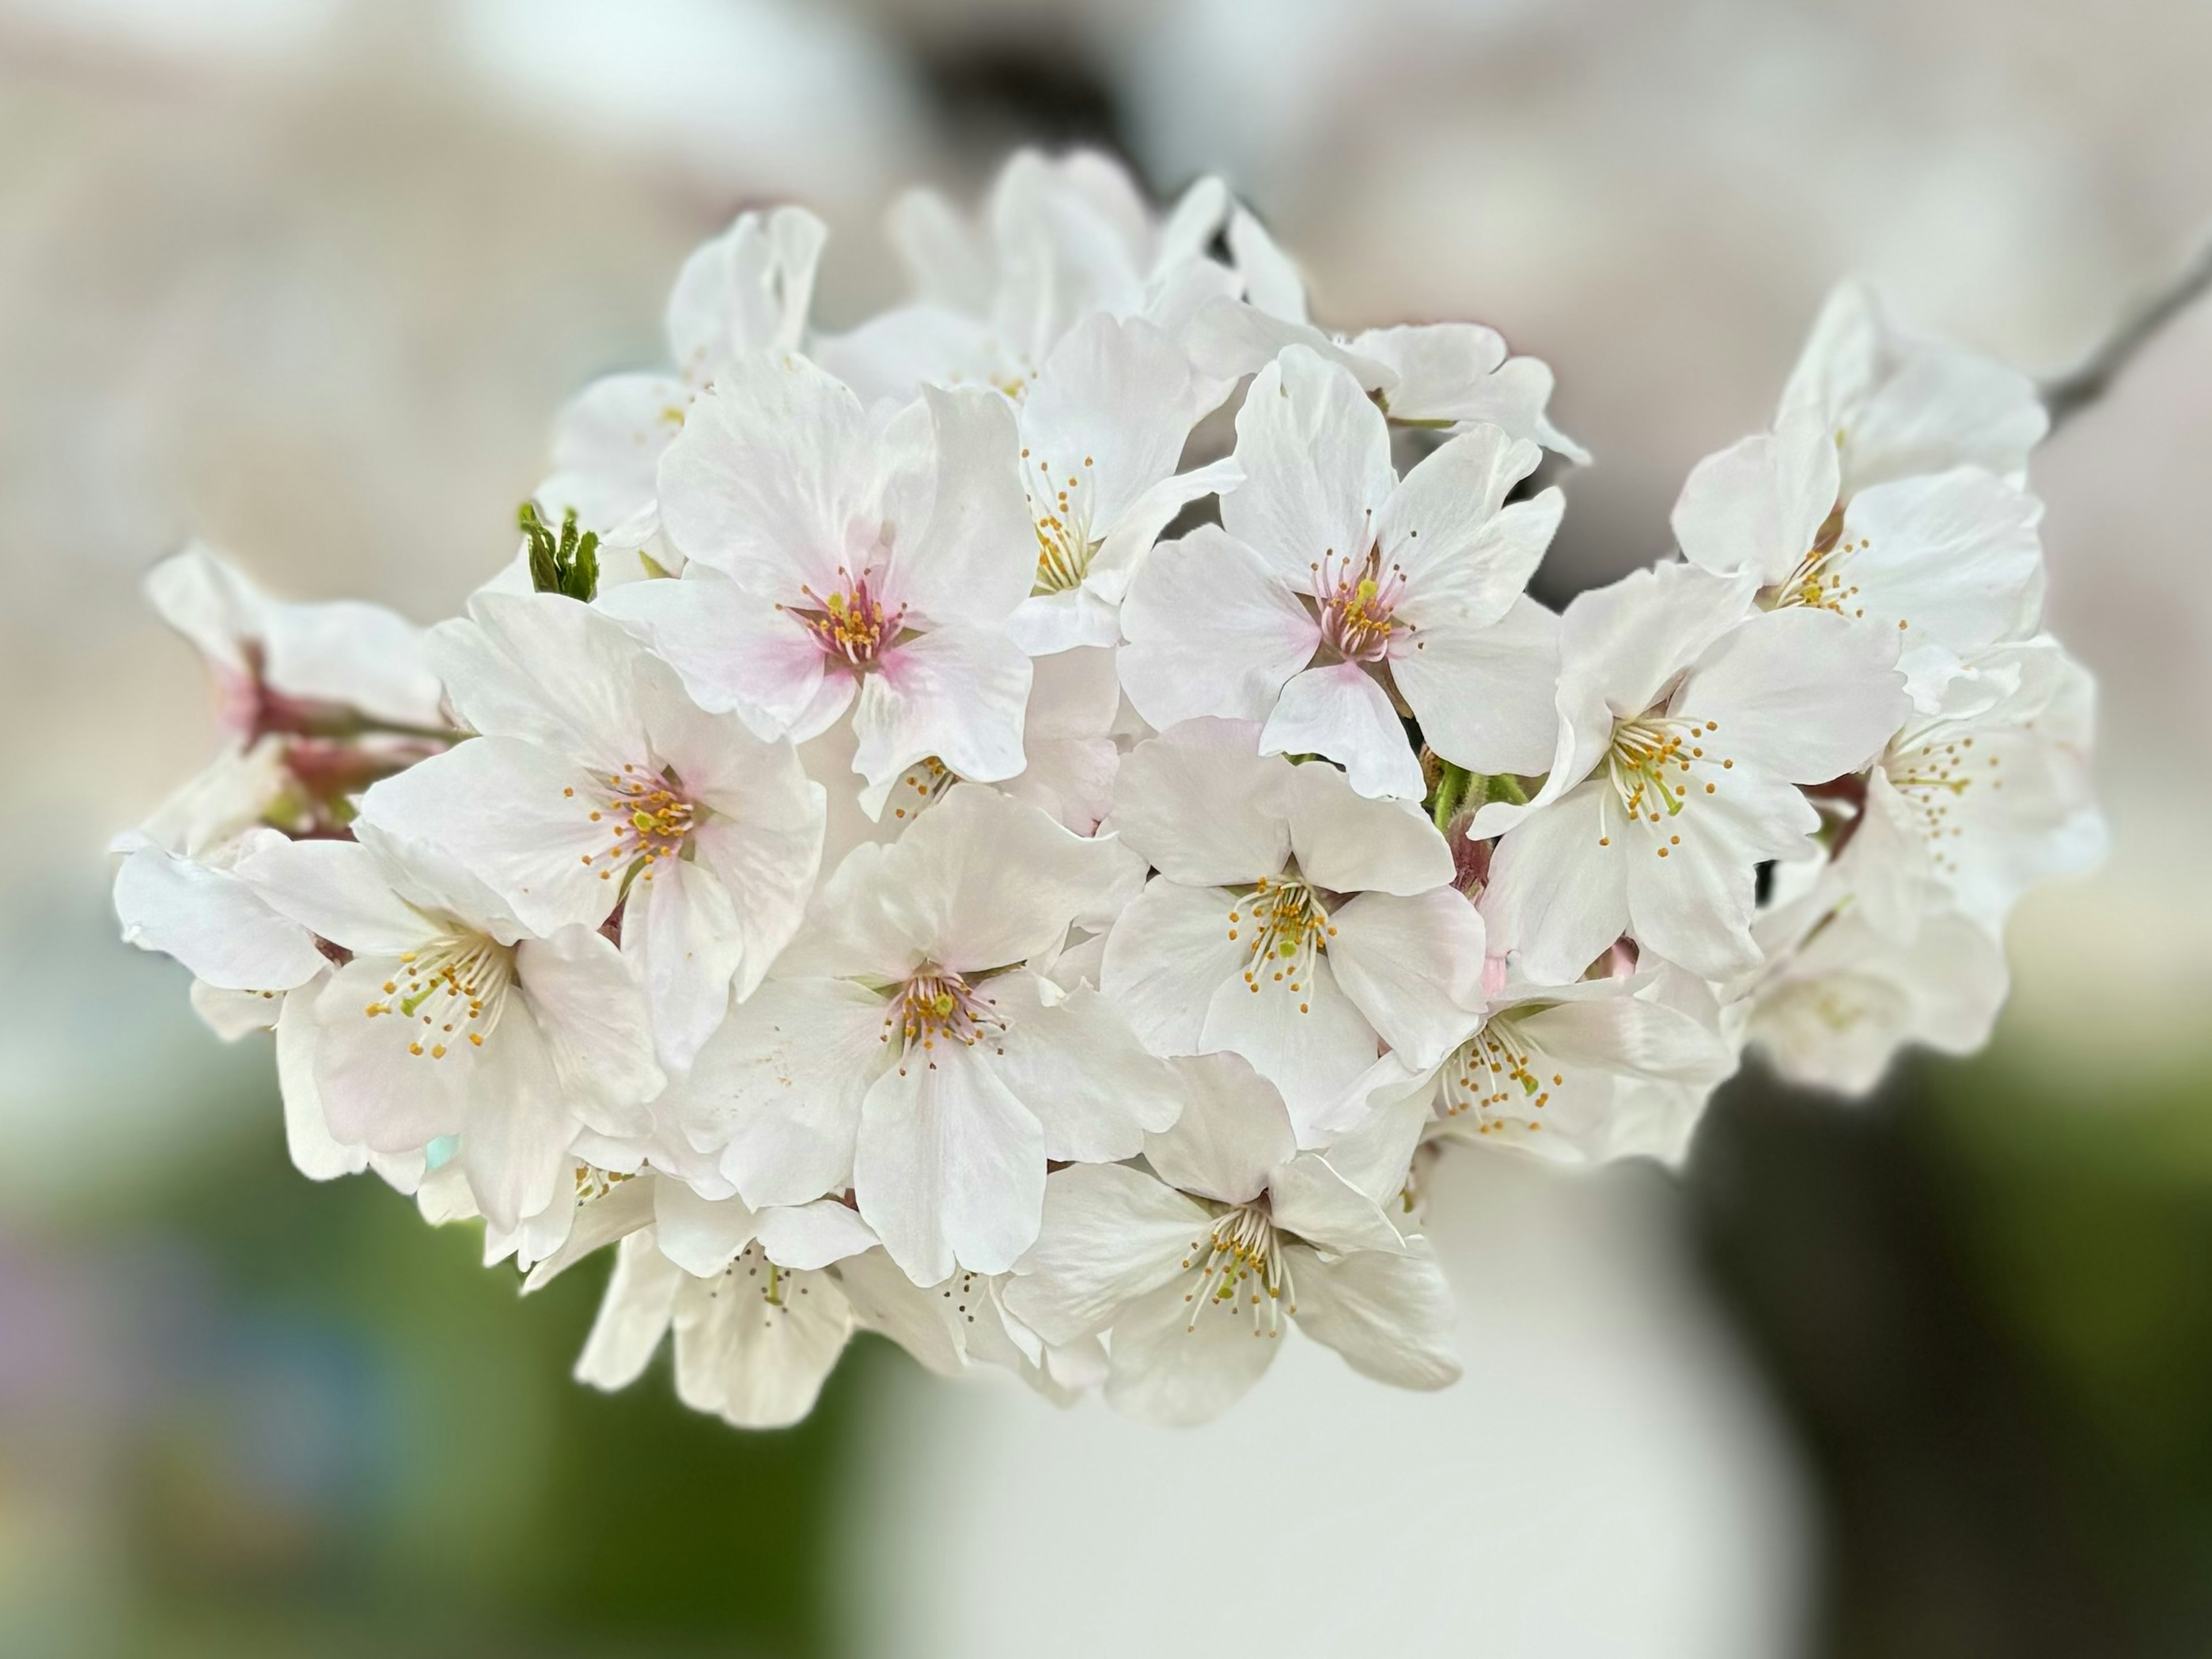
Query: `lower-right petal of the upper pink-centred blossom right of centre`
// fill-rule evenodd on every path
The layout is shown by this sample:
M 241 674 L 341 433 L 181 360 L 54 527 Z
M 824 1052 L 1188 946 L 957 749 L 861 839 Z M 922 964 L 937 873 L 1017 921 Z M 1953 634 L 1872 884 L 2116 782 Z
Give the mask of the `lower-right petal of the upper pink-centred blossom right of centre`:
M 1425 624 L 1391 661 L 1422 741 L 1471 772 L 1535 776 L 1557 752 L 1559 619 L 1522 595 L 1489 628 Z

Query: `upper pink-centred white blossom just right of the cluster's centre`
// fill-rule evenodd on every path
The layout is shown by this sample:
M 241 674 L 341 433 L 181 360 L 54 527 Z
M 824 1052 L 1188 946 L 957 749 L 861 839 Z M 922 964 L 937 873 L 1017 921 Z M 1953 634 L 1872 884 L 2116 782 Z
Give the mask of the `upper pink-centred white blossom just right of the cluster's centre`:
M 1383 414 L 1305 347 L 1237 416 L 1243 482 L 1221 529 L 1164 544 L 1121 611 L 1121 684 L 1166 728 L 1263 721 L 1263 754 L 1325 754 L 1360 794 L 1420 799 L 1398 721 L 1475 772 L 1553 748 L 1555 619 L 1522 588 L 1559 524 L 1546 489 L 1506 504 L 1533 442 L 1473 427 L 1402 480 Z

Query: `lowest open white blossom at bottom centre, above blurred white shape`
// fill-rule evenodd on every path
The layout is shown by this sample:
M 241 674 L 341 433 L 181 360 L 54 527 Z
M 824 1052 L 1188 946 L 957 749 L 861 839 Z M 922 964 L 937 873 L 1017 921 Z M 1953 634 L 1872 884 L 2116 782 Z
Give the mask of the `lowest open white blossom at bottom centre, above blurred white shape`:
M 1460 1376 L 1453 1305 L 1420 1241 L 1314 1152 L 1281 1095 L 1234 1055 L 1183 1060 L 1181 1121 L 1150 1175 L 1079 1164 L 1046 1183 L 1044 1228 L 1006 1305 L 1044 1340 L 1108 1332 L 1106 1402 L 1148 1422 L 1234 1405 L 1296 1325 L 1402 1389 Z

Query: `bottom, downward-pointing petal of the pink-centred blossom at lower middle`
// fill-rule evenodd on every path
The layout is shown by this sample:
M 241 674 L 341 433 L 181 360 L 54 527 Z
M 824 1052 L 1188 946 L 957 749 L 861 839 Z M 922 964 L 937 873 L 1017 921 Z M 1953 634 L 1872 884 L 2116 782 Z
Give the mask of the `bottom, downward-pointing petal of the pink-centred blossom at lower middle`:
M 980 1046 L 916 1046 L 860 1104 L 852 1186 L 914 1283 L 1006 1272 L 1037 1239 L 1044 1130 Z

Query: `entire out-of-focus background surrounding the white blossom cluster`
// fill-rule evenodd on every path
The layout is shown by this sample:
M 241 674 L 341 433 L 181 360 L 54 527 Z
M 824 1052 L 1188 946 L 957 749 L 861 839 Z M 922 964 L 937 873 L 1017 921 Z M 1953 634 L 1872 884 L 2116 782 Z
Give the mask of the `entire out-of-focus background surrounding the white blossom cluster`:
M 1745 1077 L 1681 1181 L 1455 1159 L 1442 1396 L 1298 1345 L 1175 1436 L 872 1340 L 792 1433 L 580 1389 L 597 1274 L 299 1179 L 100 852 L 212 743 L 144 568 L 451 613 L 743 204 L 830 219 L 836 325 L 909 181 L 1223 173 L 1323 321 L 1557 367 L 1564 602 L 1843 274 L 2068 365 L 2212 226 L 2208 73 L 2174 0 L 0 0 L 0 1652 L 2212 1652 L 2212 307 L 2037 462 L 2115 856 L 1995 1046 Z

